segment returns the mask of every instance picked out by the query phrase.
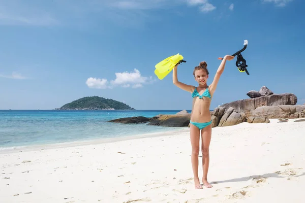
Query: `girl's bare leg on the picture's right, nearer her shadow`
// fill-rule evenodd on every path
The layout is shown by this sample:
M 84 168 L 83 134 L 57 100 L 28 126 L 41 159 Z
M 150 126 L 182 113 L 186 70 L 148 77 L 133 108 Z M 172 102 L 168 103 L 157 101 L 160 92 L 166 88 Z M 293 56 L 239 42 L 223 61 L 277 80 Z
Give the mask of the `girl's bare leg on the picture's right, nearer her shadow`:
M 211 134 L 212 134 L 212 127 L 208 125 L 201 130 L 201 152 L 202 152 L 202 167 L 203 167 L 203 177 L 202 182 L 203 185 L 207 188 L 212 187 L 207 182 L 207 172 L 208 172 L 208 165 L 209 165 L 209 145 L 211 142 Z

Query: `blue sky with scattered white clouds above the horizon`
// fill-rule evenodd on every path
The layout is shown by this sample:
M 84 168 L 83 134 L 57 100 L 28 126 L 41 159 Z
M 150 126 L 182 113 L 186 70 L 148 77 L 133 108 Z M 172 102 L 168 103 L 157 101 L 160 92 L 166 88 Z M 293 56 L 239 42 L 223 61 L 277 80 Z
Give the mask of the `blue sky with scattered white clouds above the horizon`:
M 0 0 L 0 109 L 54 109 L 102 96 L 137 110 L 190 110 L 191 93 L 155 64 L 180 53 L 178 80 L 208 84 L 226 54 L 242 53 L 250 76 L 227 61 L 211 110 L 267 86 L 305 103 L 301 0 Z

